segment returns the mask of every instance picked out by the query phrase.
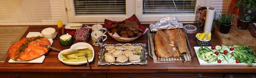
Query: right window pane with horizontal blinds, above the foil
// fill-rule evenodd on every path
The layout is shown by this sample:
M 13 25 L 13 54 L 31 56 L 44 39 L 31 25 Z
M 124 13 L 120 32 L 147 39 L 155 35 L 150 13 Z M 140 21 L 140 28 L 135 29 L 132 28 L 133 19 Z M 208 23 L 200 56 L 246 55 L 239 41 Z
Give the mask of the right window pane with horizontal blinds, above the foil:
M 143 15 L 194 14 L 195 0 L 143 0 Z

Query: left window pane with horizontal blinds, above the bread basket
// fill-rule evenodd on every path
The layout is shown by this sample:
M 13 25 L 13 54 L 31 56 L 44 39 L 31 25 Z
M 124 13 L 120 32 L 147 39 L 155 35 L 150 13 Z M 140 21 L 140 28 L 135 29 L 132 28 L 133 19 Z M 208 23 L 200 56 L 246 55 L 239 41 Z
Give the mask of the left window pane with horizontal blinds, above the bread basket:
M 126 14 L 125 0 L 74 0 L 75 15 Z

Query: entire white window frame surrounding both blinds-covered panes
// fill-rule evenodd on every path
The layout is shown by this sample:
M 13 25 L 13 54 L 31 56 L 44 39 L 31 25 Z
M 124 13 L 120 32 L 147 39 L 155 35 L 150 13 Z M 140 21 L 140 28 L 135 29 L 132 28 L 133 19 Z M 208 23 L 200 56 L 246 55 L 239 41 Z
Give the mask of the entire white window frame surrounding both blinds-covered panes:
M 141 1 L 141 6 L 138 7 L 138 1 Z M 212 0 L 196 0 L 195 12 L 197 11 L 196 7 L 201 6 L 210 6 Z M 66 7 L 66 12 L 63 12 L 62 15 L 66 14 L 66 19 L 68 23 L 73 22 L 82 22 L 87 24 L 95 24 L 95 21 L 100 24 L 104 23 L 104 19 L 109 19 L 113 21 L 122 21 L 126 18 L 131 17 L 133 14 L 141 21 L 141 23 L 156 23 L 160 18 L 167 16 L 177 16 L 177 19 L 180 23 L 194 23 L 195 12 L 194 14 L 165 14 L 165 15 L 142 15 L 143 12 L 143 0 L 126 0 L 126 15 L 102 15 L 102 16 L 75 16 L 74 10 L 74 1 L 73 0 L 60 0 L 61 6 Z

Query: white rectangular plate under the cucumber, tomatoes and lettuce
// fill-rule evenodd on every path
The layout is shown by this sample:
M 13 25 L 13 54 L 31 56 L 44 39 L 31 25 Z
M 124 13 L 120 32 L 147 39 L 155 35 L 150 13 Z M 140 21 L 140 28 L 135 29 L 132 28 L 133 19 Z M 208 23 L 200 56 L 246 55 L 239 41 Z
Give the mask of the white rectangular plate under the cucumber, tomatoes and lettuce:
M 199 48 L 200 47 L 194 47 L 196 55 L 197 55 L 196 49 L 199 49 Z M 208 47 L 208 48 L 211 48 L 211 46 Z M 233 51 L 230 51 L 230 53 L 232 53 L 232 52 Z M 198 62 L 199 62 L 200 65 L 236 65 L 236 66 L 247 66 L 246 63 L 217 63 L 217 61 L 216 62 L 207 63 L 204 60 L 199 59 L 198 55 L 197 55 L 197 59 L 198 59 Z M 253 63 L 252 66 L 256 66 L 256 63 Z

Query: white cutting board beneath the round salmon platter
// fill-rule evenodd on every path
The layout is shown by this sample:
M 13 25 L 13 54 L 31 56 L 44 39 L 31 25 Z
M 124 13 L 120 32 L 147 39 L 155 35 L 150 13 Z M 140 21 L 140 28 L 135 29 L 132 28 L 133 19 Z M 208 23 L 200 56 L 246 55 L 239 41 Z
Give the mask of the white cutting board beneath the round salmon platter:
M 29 37 L 36 37 L 36 36 L 42 36 L 42 34 L 40 32 L 29 32 L 28 35 L 26 36 L 26 38 Z M 57 34 L 55 35 L 55 37 L 57 36 Z M 50 41 L 51 45 L 53 43 L 53 40 L 55 37 L 53 38 L 48 38 L 48 40 Z M 33 60 L 29 60 L 29 61 L 15 61 L 13 59 L 10 59 L 8 62 L 9 63 L 43 63 L 44 62 L 44 58 L 45 56 L 42 55 L 41 57 L 38 57 L 36 59 Z

